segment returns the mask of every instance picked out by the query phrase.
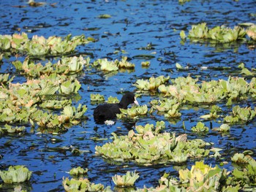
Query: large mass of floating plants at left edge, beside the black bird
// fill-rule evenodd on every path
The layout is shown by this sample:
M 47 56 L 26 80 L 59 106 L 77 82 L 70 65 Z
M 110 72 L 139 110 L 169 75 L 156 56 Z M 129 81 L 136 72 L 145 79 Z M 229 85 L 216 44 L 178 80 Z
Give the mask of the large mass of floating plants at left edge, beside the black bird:
M 80 82 L 69 74 L 80 72 L 83 63 L 81 57 L 63 58 L 58 64 L 48 63 L 45 66 L 34 64 L 29 58 L 23 64 L 13 62 L 17 71 L 27 79 L 23 83 L 12 83 L 13 78 L 8 83 L 2 82 L 0 122 L 37 125 L 48 133 L 54 129 L 56 132 L 65 131 L 66 127 L 80 123 L 86 118 L 83 116 L 86 105 L 72 107 L 70 99 L 56 99 L 56 93 L 61 96 L 78 93 Z M 54 114 L 49 110 L 61 112 Z

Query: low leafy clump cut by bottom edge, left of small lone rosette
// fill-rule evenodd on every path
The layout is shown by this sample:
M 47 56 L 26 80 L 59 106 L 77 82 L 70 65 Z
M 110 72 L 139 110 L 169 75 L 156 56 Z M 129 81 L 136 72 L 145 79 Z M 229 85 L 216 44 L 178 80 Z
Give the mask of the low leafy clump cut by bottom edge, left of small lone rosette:
M 103 191 L 104 185 L 101 183 L 94 184 L 88 179 L 80 178 L 79 180 L 65 178 L 63 177 L 62 185 L 65 191 Z

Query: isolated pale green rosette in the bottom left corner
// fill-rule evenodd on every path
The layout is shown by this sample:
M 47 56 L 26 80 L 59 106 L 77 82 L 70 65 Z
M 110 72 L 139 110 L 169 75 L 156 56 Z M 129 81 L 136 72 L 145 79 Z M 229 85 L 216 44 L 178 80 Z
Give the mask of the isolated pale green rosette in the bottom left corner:
M 4 183 L 23 183 L 29 181 L 32 172 L 25 166 L 9 166 L 7 171 L 0 171 Z

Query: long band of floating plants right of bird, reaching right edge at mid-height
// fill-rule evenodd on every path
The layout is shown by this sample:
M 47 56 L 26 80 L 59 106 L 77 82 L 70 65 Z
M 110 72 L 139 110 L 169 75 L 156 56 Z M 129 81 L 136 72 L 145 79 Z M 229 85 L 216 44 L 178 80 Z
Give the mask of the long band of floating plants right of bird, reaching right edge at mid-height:
M 173 85 L 159 85 L 158 91 L 165 97 L 172 97 L 181 103 L 212 104 L 227 100 L 227 105 L 230 105 L 233 100 L 244 99 L 248 93 L 255 93 L 254 78 L 250 83 L 240 77 L 203 81 L 200 84 L 192 77 L 177 77 L 172 82 Z M 212 115 L 216 116 L 217 112 L 213 111 Z M 208 115 L 206 118 L 211 118 L 211 116 Z

